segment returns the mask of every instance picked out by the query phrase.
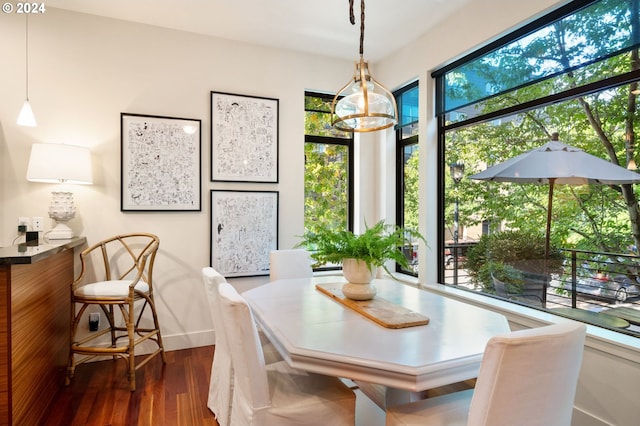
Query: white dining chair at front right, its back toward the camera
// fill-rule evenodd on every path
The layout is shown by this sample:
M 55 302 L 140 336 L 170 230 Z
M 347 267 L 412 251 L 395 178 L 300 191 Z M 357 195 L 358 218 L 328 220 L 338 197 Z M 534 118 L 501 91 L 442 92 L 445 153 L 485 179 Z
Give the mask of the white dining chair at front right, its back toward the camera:
M 387 410 L 387 426 L 569 426 L 586 327 L 562 323 L 493 337 L 474 389 Z

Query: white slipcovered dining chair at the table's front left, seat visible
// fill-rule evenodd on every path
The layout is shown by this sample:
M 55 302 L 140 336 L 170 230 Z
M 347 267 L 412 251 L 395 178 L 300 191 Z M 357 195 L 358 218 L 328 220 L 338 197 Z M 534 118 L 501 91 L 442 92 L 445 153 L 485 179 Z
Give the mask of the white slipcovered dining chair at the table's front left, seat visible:
M 218 290 L 234 369 L 232 425 L 355 424 L 355 394 L 344 383 L 284 361 L 266 365 L 249 305 L 228 283 Z

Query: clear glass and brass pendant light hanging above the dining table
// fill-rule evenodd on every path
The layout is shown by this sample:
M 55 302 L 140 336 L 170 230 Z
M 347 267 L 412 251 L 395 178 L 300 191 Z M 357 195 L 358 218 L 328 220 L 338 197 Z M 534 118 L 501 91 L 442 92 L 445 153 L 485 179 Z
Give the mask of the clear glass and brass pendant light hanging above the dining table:
M 353 1 L 349 0 L 349 19 L 355 25 Z M 393 94 L 369 72 L 363 57 L 364 0 L 360 2 L 360 60 L 351 80 L 338 91 L 331 103 L 332 125 L 346 132 L 373 132 L 397 122 L 398 106 Z

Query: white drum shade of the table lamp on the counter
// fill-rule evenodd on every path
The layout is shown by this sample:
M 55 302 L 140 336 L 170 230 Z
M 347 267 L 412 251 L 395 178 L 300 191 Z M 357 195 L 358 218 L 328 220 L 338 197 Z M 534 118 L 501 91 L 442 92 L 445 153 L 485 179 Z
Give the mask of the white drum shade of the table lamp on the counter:
M 93 183 L 89 148 L 53 143 L 31 146 L 27 180 L 45 183 Z

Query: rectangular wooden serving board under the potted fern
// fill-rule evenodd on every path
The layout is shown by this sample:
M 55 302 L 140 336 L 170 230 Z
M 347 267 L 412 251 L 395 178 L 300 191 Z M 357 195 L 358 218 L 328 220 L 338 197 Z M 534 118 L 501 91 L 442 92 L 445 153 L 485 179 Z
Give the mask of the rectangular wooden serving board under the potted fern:
M 316 284 L 316 289 L 386 328 L 406 328 L 429 324 L 429 317 L 381 297 L 376 296 L 371 300 L 348 299 L 342 294 L 342 285 L 343 283 Z

